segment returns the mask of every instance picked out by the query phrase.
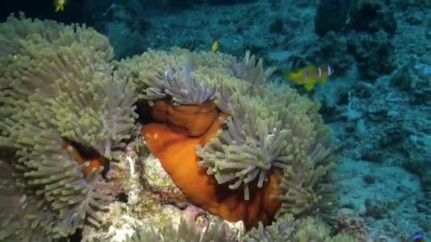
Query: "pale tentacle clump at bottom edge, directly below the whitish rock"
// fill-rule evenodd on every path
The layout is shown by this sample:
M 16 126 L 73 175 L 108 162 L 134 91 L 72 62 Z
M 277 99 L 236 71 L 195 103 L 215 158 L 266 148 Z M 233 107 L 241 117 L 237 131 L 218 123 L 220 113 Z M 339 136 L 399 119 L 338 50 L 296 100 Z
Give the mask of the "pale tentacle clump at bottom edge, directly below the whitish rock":
M 227 228 L 223 221 L 210 221 L 205 229 L 198 229 L 193 220 L 181 217 L 179 224 L 167 223 L 163 228 L 154 225 L 141 227 L 128 236 L 125 242 L 205 242 L 205 241 L 237 241 L 235 234 L 226 234 Z

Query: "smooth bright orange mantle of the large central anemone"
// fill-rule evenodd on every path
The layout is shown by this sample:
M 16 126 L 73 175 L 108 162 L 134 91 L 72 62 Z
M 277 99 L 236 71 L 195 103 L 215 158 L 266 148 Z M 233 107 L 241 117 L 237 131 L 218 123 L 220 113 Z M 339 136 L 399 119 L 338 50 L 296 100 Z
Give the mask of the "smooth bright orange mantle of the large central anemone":
M 206 168 L 198 165 L 196 145 L 204 146 L 216 137 L 221 119 L 227 117 L 213 103 L 173 106 L 159 100 L 151 113 L 155 122 L 144 125 L 141 134 L 191 203 L 228 221 L 242 220 L 247 228 L 274 218 L 280 207 L 279 200 L 272 198 L 279 195 L 275 188 L 278 172 L 271 172 L 262 188 L 250 188 L 250 200 L 246 201 L 242 188 L 230 190 L 219 185 L 213 175 L 207 175 Z

